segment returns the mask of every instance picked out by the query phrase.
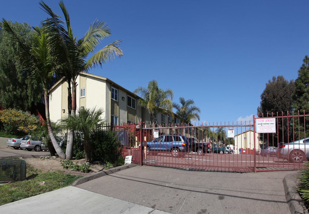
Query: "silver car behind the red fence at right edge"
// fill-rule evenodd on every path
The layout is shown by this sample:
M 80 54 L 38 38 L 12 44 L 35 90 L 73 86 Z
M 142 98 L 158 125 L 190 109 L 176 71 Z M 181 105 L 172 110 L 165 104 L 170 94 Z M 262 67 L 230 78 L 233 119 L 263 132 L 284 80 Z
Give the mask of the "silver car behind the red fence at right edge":
M 291 143 L 280 143 L 277 155 L 291 163 L 303 163 L 309 160 L 309 138 L 295 140 Z

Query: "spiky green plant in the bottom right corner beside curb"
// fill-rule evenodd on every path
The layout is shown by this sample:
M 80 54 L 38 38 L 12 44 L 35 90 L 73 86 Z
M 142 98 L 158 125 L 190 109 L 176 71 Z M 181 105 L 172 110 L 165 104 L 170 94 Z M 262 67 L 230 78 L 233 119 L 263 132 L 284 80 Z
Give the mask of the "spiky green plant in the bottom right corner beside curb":
M 303 162 L 305 168 L 300 169 L 298 189 L 296 189 L 303 199 L 307 209 L 309 208 L 309 163 Z

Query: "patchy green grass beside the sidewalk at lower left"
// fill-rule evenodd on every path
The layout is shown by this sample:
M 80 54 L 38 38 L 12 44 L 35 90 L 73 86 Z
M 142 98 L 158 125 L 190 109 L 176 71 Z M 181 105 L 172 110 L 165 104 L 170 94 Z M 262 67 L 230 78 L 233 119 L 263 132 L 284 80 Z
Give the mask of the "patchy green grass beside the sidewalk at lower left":
M 26 180 L 0 185 L 0 205 L 70 186 L 81 177 L 60 170 L 42 173 L 27 164 Z M 43 181 L 45 184 L 40 185 Z

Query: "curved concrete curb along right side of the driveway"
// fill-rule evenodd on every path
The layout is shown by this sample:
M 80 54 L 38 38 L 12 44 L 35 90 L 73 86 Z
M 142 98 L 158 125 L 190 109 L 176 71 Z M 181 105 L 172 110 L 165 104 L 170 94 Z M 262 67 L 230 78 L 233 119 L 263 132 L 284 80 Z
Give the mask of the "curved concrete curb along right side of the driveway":
M 286 202 L 290 207 L 291 214 L 309 214 L 303 200 L 296 191 L 296 183 L 298 182 L 299 173 L 291 173 L 284 177 L 283 186 L 286 193 Z

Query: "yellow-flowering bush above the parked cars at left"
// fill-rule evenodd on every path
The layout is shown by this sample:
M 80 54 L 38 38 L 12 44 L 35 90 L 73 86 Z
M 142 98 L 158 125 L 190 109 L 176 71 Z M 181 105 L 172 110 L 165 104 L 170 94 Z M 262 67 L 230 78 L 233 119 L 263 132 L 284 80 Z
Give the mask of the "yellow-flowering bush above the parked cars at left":
M 3 131 L 7 134 L 29 133 L 39 124 L 39 118 L 29 112 L 16 109 L 4 109 L 0 111 L 0 121 Z

